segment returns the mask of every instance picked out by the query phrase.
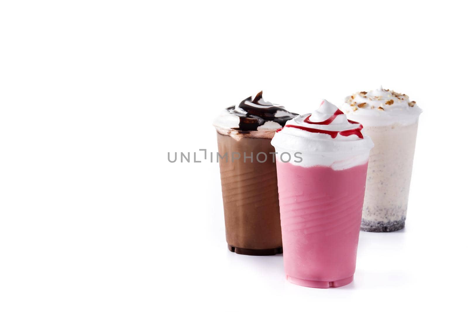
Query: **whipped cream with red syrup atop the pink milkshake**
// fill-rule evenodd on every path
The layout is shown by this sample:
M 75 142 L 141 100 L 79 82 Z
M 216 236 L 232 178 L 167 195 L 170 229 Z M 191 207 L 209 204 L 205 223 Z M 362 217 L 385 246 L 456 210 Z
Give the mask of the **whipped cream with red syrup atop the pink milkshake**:
M 340 109 L 323 100 L 311 114 L 286 122 L 284 128 L 278 129 L 271 145 L 278 153 L 305 154 L 301 163 L 293 165 L 342 170 L 364 164 L 369 157 L 373 143 L 362 129 L 360 123 L 348 120 Z

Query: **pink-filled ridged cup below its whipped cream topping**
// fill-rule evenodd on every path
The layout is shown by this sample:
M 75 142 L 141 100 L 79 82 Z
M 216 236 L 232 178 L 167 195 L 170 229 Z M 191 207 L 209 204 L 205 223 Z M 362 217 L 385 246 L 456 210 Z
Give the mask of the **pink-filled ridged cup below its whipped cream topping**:
M 367 163 L 345 170 L 276 166 L 286 279 L 316 288 L 351 283 Z

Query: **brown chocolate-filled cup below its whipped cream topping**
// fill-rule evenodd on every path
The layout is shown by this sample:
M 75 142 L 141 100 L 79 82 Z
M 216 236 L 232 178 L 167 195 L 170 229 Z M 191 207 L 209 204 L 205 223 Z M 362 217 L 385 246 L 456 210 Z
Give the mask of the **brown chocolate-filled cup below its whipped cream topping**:
M 216 130 L 229 250 L 281 254 L 275 131 Z

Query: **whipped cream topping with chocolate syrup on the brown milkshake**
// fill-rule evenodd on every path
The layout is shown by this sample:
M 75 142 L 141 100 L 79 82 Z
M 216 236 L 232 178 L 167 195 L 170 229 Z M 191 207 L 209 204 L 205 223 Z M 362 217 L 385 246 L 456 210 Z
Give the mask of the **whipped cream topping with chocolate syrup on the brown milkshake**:
M 263 91 L 250 96 L 241 103 L 225 109 L 213 122 L 223 129 L 239 131 L 277 130 L 286 121 L 298 114 L 287 111 L 283 106 L 263 100 Z

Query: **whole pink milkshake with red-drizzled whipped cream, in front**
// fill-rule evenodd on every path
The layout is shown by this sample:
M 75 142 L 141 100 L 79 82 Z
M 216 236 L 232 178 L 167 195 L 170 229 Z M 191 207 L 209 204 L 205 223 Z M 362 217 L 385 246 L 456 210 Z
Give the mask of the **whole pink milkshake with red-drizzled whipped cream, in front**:
M 286 279 L 315 288 L 351 283 L 372 140 L 324 100 L 312 114 L 286 122 L 271 145 Z

